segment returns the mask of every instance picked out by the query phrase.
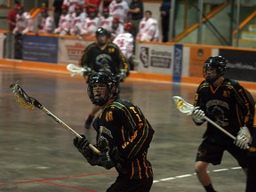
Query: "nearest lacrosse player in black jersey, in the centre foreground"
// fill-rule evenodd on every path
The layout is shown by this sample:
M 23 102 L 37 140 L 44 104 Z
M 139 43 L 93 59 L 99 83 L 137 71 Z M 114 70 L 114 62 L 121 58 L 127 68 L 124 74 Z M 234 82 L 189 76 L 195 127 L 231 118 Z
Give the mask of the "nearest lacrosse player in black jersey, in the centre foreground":
M 87 92 L 92 103 L 101 108 L 92 124 L 100 155 L 88 147 L 90 143 L 84 135 L 83 139 L 75 138 L 74 145 L 89 164 L 116 167 L 118 177 L 108 192 L 148 192 L 153 172 L 147 154 L 155 131 L 140 108 L 119 99 L 119 80 L 114 74 L 92 73 Z

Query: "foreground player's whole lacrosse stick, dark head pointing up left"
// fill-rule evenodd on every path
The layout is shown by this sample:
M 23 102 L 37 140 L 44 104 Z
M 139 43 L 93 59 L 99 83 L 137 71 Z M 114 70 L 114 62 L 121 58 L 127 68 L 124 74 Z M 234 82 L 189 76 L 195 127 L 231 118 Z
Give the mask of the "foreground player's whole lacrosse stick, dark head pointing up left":
M 28 108 L 28 110 L 33 110 L 34 108 L 39 108 L 44 111 L 45 114 L 48 116 L 51 116 L 52 119 L 54 119 L 58 124 L 60 124 L 62 127 L 67 129 L 69 132 L 71 132 L 73 135 L 75 135 L 77 138 L 81 139 L 82 136 L 75 132 L 73 129 L 71 129 L 68 124 L 65 124 L 62 122 L 57 116 L 54 116 L 51 111 L 49 111 L 47 108 L 44 108 L 44 106 L 39 103 L 36 99 L 29 97 L 26 92 L 19 86 L 19 84 L 11 84 L 10 89 L 12 90 L 12 93 L 14 94 L 16 102 L 20 105 L 22 108 Z M 89 147 L 92 148 L 92 150 L 99 154 L 100 151 L 98 148 L 95 148 L 91 143 L 89 144 Z

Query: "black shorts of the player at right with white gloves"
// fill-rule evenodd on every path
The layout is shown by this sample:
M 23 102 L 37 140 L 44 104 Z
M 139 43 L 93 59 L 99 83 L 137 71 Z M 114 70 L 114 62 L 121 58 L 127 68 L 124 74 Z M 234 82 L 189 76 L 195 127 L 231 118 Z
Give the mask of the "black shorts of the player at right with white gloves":
M 235 144 L 220 144 L 213 140 L 205 139 L 198 148 L 196 162 L 203 161 L 211 164 L 220 164 L 224 151 L 236 158 L 237 163 L 247 167 L 247 150 L 237 148 Z

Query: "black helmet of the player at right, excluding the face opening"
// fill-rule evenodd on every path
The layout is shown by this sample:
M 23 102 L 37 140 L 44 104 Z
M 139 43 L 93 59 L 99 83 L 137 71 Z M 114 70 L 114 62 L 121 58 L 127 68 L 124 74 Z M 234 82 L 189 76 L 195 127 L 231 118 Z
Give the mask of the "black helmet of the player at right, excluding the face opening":
M 212 68 L 216 69 L 215 76 L 207 75 Z M 208 60 L 204 62 L 204 78 L 208 83 L 216 81 L 220 76 L 224 76 L 224 71 L 227 68 L 227 60 L 222 56 L 209 57 Z

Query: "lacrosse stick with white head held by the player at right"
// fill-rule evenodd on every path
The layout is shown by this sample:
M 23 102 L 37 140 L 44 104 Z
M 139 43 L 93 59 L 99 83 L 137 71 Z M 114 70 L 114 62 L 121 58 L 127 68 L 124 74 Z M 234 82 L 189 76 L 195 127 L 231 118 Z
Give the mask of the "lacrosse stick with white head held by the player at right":
M 186 102 L 180 96 L 173 96 L 172 99 L 174 100 L 177 108 L 180 110 L 181 113 L 187 114 L 187 116 L 193 113 L 195 107 L 192 104 Z M 236 137 L 234 135 L 224 130 L 222 127 L 220 127 L 219 124 L 216 124 L 207 116 L 204 116 L 204 119 L 210 124 L 212 124 L 213 126 L 215 126 L 216 128 L 218 128 L 221 132 L 224 132 L 225 134 L 227 134 L 228 137 L 230 137 L 231 139 L 236 140 Z

